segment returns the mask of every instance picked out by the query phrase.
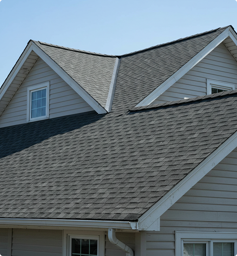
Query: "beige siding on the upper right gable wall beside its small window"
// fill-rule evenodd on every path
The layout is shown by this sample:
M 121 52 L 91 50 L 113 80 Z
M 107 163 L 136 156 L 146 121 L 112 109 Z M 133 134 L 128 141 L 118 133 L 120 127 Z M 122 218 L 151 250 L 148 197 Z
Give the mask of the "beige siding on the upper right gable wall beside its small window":
M 152 104 L 206 95 L 206 79 L 237 86 L 237 62 L 223 43 L 218 45 Z

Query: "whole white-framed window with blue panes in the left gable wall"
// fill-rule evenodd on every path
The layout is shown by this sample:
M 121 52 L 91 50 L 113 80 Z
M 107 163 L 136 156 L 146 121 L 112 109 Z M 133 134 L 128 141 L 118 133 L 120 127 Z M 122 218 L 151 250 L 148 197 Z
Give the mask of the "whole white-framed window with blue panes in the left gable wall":
M 27 88 L 27 122 L 49 118 L 49 82 Z

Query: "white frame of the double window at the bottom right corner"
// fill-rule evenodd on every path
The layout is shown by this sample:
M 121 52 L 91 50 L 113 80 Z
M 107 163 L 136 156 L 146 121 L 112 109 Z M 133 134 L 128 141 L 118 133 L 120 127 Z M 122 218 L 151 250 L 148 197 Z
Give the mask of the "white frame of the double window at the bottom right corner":
M 213 256 L 213 243 L 233 243 L 237 254 L 237 232 L 175 231 L 175 256 L 183 256 L 184 243 L 206 243 L 206 256 Z

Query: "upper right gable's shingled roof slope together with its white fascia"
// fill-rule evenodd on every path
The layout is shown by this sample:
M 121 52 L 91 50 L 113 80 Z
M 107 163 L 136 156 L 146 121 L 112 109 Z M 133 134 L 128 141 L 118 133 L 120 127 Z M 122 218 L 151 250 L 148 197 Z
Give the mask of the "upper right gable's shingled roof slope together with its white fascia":
M 150 104 L 214 47 L 229 37 L 229 30 L 233 31 L 231 26 L 217 28 L 123 55 L 117 76 L 113 109 Z M 235 44 L 232 43 L 231 46 L 236 50 Z M 173 77 L 175 74 L 177 76 Z M 155 94 L 156 90 L 161 91 Z M 152 94 L 153 98 L 150 96 Z

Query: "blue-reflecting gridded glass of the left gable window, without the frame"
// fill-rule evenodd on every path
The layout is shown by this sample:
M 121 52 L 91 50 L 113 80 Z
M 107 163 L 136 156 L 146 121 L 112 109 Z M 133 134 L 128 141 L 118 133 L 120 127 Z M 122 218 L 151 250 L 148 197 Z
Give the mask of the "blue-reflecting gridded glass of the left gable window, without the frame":
M 31 119 L 46 116 L 46 88 L 31 92 Z

